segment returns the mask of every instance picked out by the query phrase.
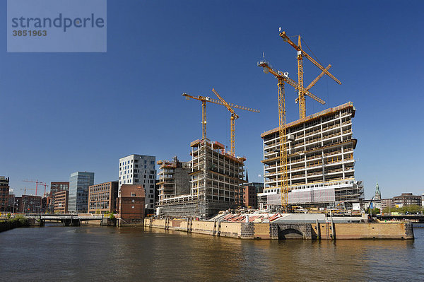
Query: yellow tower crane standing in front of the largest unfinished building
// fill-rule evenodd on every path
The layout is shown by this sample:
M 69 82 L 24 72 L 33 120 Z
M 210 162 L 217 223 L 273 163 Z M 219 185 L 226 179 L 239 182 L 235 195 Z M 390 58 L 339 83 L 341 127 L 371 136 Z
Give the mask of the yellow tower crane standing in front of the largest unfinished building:
M 264 68 L 264 73 L 273 74 L 278 80 L 278 125 L 279 125 L 279 156 L 280 156 L 280 184 L 279 188 L 281 190 L 281 207 L 284 211 L 288 211 L 288 183 L 287 183 L 287 147 L 286 147 L 286 131 L 285 131 L 285 94 L 284 94 L 284 83 L 290 84 L 298 91 L 302 91 L 305 95 L 310 96 L 310 98 L 317 100 L 324 104 L 325 102 L 319 99 L 317 96 L 310 93 L 308 90 L 300 86 L 296 81 L 288 77 L 287 72 L 277 71 L 273 69 L 268 61 L 258 61 L 258 66 Z

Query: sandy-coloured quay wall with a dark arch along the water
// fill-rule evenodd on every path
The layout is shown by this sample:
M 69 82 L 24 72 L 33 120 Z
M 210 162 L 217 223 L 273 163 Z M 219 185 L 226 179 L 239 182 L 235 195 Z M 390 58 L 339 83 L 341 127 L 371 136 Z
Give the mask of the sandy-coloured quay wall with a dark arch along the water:
M 144 226 L 187 233 L 275 240 L 287 230 L 295 230 L 303 239 L 413 239 L 411 223 L 230 223 L 193 221 L 192 219 L 145 218 Z

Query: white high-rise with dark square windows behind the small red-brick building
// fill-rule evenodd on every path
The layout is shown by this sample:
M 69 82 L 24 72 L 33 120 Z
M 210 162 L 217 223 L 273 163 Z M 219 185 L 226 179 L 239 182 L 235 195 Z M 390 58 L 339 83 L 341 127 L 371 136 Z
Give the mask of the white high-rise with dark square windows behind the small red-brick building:
M 146 195 L 146 213 L 155 211 L 156 158 L 153 155 L 128 155 L 119 159 L 119 190 L 123 184 L 138 184 Z

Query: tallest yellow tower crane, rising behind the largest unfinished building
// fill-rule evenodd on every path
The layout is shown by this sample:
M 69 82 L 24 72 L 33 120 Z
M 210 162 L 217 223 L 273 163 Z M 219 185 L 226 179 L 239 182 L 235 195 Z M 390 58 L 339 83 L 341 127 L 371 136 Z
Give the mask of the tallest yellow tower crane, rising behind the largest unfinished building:
M 292 40 L 290 40 L 290 38 L 285 34 L 285 31 L 283 31 L 282 33 L 280 33 L 280 36 L 283 38 L 283 40 L 285 42 L 288 42 L 288 44 L 290 44 L 293 48 L 295 48 L 298 51 L 298 85 L 300 86 L 300 88 L 298 88 L 298 98 L 296 99 L 296 102 L 299 102 L 299 116 L 300 116 L 300 119 L 302 119 L 302 118 L 306 117 L 306 101 L 305 101 L 305 95 L 309 96 L 309 94 L 307 92 L 305 92 L 305 90 L 306 91 L 307 90 L 310 90 L 310 88 L 312 88 L 312 86 L 314 86 L 315 83 L 317 83 L 317 81 L 319 81 L 319 78 L 322 78 L 322 76 L 324 76 L 324 74 L 326 74 L 327 76 L 333 78 L 333 80 L 336 81 L 336 83 L 338 83 L 338 84 L 341 84 L 341 82 L 336 77 L 334 77 L 332 74 L 329 73 L 329 69 L 331 68 L 331 64 L 329 64 L 328 66 L 326 66 L 326 68 L 324 68 L 324 66 L 322 66 L 321 64 L 319 64 L 309 54 L 307 54 L 307 52 L 305 52 L 302 49 L 302 44 L 300 42 L 301 41 L 300 40 L 300 35 L 298 36 L 298 45 L 296 45 L 295 42 L 293 42 Z M 319 74 L 319 76 L 317 76 L 317 78 L 315 78 L 310 83 L 310 85 L 307 86 L 307 88 L 303 88 L 303 57 L 305 57 L 308 60 L 310 60 L 312 62 L 312 64 L 314 64 L 315 66 L 317 66 L 322 71 L 322 73 Z M 314 100 L 317 100 L 317 99 L 314 99 Z M 322 102 L 322 104 L 324 104 L 324 103 L 325 102 Z

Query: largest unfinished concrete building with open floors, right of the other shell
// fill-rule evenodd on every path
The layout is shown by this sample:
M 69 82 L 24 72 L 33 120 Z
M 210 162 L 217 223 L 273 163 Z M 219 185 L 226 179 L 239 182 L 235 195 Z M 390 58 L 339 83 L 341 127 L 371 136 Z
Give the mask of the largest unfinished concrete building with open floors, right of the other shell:
M 355 180 L 352 102 L 312 114 L 285 125 L 288 204 L 302 207 L 345 206 L 363 200 L 363 185 Z M 259 207 L 281 206 L 278 128 L 264 139 L 264 192 Z

